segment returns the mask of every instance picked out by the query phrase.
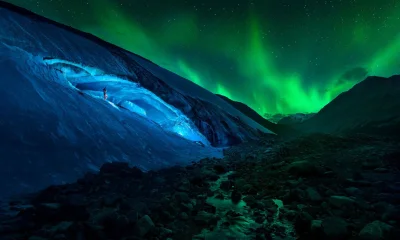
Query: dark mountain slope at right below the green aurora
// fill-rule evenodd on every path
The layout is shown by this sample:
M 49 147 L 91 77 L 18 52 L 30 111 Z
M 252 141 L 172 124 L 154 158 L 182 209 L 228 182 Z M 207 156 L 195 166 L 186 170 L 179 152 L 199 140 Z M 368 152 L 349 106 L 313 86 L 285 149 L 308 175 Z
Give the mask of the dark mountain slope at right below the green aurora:
M 368 77 L 298 125 L 311 132 L 400 133 L 400 75 Z

